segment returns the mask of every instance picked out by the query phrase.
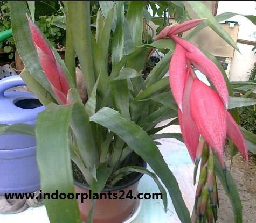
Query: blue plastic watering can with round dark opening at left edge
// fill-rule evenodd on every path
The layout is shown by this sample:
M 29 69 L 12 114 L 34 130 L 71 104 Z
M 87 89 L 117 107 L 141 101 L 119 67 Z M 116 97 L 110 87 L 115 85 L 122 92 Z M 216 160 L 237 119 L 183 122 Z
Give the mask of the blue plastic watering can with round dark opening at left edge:
M 19 75 L 0 80 L 0 124 L 36 124 L 44 106 L 33 93 L 6 90 L 25 85 Z M 0 195 L 33 192 L 40 188 L 34 136 L 3 133 L 0 135 Z

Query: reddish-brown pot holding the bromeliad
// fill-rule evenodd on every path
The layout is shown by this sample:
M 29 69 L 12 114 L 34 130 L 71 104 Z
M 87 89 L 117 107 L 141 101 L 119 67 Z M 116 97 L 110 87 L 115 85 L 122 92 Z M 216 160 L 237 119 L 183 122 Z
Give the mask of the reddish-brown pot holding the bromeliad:
M 146 165 L 146 163 L 145 163 Z M 130 214 L 133 213 L 136 199 L 126 198 L 126 195 L 129 191 L 132 191 L 132 196 L 137 196 L 137 188 L 140 178 L 143 174 L 136 174 L 135 178 L 123 185 L 115 186 L 114 188 L 104 189 L 102 193 L 108 193 L 109 191 L 117 194 L 117 197 L 123 197 L 125 199 L 98 199 L 95 203 L 95 208 L 93 212 L 93 223 L 121 223 L 126 220 Z M 87 193 L 89 196 L 89 187 L 79 183 L 78 181 L 74 182 L 75 191 L 78 193 Z M 108 195 L 107 195 L 108 196 Z M 108 198 L 108 197 L 107 197 Z M 112 197 L 113 198 L 113 197 Z M 89 210 L 91 208 L 91 200 L 85 199 L 81 203 L 81 199 L 78 199 L 79 210 L 81 218 L 86 222 Z

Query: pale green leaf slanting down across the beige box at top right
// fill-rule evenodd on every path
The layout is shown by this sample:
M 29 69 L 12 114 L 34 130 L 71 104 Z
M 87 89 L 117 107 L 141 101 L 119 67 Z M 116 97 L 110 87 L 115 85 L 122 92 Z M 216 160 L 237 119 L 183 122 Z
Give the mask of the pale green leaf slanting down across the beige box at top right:
M 239 52 L 239 49 L 236 45 L 236 43 L 233 41 L 233 39 L 230 37 L 229 34 L 218 24 L 215 17 L 212 15 L 209 9 L 202 3 L 198 1 L 188 1 L 191 8 L 197 13 L 197 15 L 200 18 L 207 18 L 204 22 L 212 28 L 213 31 L 215 31 L 221 38 L 223 38 L 230 46 L 237 49 Z

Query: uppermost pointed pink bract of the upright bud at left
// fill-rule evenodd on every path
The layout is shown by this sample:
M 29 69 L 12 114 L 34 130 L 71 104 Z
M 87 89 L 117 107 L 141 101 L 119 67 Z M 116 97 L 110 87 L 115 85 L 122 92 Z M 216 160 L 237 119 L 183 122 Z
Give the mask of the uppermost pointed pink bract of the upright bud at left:
M 34 25 L 33 21 L 31 21 L 30 17 L 26 15 L 27 20 L 29 21 L 30 32 L 32 35 L 32 39 L 34 44 L 39 47 L 44 53 L 46 53 L 52 60 L 54 60 L 54 56 L 52 54 L 51 48 L 48 46 L 45 41 L 43 35 L 40 33 L 38 28 Z

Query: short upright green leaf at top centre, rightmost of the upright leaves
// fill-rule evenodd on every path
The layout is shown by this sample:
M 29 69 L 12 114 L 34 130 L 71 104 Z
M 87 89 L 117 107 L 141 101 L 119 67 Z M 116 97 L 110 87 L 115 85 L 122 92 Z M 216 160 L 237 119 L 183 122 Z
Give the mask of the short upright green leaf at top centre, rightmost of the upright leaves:
M 132 34 L 133 45 L 140 46 L 142 41 L 142 31 L 143 31 L 143 1 L 131 1 L 127 10 L 127 21 L 130 28 L 130 33 Z

